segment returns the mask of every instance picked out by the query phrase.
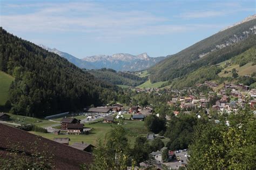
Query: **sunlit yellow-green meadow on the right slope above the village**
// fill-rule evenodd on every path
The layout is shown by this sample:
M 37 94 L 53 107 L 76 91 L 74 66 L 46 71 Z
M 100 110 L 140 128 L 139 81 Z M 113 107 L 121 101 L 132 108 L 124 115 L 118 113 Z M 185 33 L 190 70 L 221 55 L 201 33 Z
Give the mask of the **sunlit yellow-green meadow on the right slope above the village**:
M 219 77 L 232 77 L 232 69 L 237 70 L 239 76 L 245 76 L 245 75 L 251 75 L 253 72 L 256 71 L 256 65 L 252 65 L 252 63 L 247 63 L 241 67 L 239 67 L 238 64 L 234 64 L 231 66 L 226 67 L 223 69 L 218 75 Z M 225 71 L 228 71 L 228 73 L 224 73 Z

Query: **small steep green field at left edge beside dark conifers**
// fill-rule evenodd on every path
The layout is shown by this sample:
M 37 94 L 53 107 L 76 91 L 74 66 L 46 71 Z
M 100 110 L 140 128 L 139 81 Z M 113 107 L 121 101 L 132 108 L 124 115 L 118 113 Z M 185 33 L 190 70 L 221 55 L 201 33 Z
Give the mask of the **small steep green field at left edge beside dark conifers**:
M 9 98 L 9 88 L 14 77 L 0 71 L 0 106 L 4 106 Z

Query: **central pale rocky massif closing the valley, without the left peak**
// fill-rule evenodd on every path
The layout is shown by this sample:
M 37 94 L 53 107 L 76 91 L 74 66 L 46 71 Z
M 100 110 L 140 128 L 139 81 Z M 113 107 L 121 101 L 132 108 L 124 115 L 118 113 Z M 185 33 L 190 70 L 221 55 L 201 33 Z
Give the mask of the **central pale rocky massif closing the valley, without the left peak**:
M 82 60 L 90 62 L 96 69 L 107 68 L 117 71 L 139 71 L 145 70 L 157 64 L 164 57 L 149 57 L 147 53 L 133 56 L 127 53 L 117 53 L 112 56 L 98 55 L 85 57 Z

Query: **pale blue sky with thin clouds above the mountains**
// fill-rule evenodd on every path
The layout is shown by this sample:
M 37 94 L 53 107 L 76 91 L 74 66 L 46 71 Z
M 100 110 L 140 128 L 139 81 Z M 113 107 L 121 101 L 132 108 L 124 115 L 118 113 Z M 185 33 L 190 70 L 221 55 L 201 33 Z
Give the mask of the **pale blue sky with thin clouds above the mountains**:
M 6 31 L 77 58 L 179 52 L 256 13 L 256 1 L 4 1 Z

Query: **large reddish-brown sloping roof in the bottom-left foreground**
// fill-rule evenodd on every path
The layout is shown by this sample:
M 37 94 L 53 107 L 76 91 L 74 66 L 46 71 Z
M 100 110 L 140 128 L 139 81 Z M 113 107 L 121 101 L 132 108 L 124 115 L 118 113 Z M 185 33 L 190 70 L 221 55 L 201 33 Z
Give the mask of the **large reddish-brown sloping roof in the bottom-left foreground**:
M 8 157 L 8 149 L 13 148 L 11 144 L 19 144 L 24 148 L 26 153 L 29 153 L 31 143 L 38 141 L 39 152 L 46 151 L 52 153 L 52 161 L 55 164 L 54 169 L 79 169 L 81 164 L 91 164 L 91 153 L 79 151 L 68 145 L 59 144 L 53 140 L 38 137 L 35 134 L 19 130 L 18 128 L 0 124 L 0 157 Z M 10 132 L 12 135 L 10 135 Z M 39 140 L 38 140 L 39 139 Z M 45 147 L 47 145 L 48 147 Z

